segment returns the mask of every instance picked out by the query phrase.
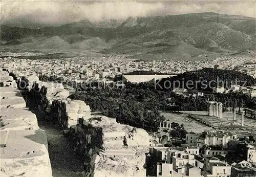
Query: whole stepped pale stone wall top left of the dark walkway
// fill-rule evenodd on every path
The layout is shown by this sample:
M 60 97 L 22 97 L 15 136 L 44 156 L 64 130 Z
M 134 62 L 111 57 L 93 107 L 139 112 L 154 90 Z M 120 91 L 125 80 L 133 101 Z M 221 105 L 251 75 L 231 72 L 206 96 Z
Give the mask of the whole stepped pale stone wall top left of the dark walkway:
M 0 76 L 1 83 L 15 83 L 8 72 L 0 71 Z M 45 131 L 38 127 L 36 116 L 14 86 L 0 87 L 0 175 L 50 177 Z

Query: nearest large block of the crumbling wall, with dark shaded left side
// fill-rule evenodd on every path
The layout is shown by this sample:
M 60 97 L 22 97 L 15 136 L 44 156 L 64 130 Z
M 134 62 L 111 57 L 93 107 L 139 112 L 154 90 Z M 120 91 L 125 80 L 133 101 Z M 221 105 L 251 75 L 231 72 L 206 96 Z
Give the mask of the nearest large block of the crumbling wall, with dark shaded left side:
M 143 129 L 93 116 L 71 126 L 70 139 L 84 158 L 85 176 L 146 176 L 150 139 Z

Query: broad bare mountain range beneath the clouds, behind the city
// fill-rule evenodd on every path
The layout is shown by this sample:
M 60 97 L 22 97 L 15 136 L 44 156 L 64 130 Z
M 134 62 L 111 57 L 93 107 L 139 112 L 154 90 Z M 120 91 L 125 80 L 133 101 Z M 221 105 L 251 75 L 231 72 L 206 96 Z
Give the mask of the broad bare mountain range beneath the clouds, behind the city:
M 192 60 L 241 51 L 252 54 L 256 49 L 255 39 L 256 18 L 194 13 L 98 22 L 82 20 L 37 29 L 1 25 L 0 50 Z

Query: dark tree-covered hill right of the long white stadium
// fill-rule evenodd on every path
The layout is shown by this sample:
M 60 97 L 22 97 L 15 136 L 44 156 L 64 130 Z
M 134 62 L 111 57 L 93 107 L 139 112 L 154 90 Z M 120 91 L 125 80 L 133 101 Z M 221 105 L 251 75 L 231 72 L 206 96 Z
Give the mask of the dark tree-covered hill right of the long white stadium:
M 169 84 L 171 84 L 170 88 L 211 91 L 213 87 L 217 86 L 224 86 L 226 88 L 234 84 L 251 86 L 256 84 L 256 79 L 237 71 L 206 68 L 198 71 L 185 72 L 171 78 L 163 78 L 158 83 L 160 85 L 159 89 L 161 87 L 164 88 L 164 84 L 166 87 L 169 87 Z M 244 83 L 245 85 L 243 85 Z

